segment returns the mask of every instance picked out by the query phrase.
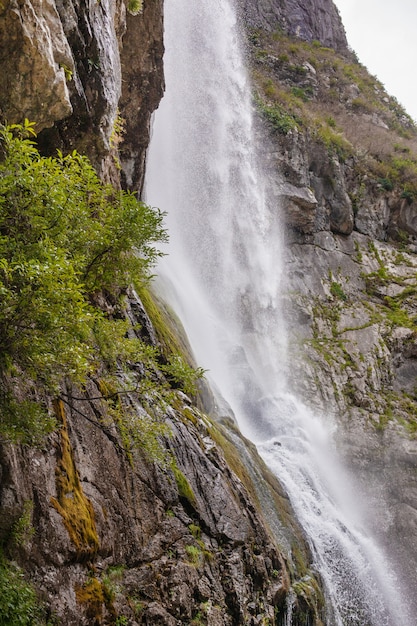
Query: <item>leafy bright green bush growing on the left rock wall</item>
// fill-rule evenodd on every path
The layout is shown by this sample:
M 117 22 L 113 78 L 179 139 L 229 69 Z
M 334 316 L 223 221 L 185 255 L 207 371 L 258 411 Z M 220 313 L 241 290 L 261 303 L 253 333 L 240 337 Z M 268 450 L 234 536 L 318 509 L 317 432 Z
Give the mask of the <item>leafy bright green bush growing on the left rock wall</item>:
M 14 398 L 13 375 L 56 393 L 64 377 L 82 384 L 97 357 L 126 357 L 126 324 L 94 295 L 146 281 L 166 240 L 158 210 L 103 185 L 76 152 L 42 157 L 33 134 L 27 121 L 0 129 L 0 430 L 12 440 L 51 426 L 36 400 Z

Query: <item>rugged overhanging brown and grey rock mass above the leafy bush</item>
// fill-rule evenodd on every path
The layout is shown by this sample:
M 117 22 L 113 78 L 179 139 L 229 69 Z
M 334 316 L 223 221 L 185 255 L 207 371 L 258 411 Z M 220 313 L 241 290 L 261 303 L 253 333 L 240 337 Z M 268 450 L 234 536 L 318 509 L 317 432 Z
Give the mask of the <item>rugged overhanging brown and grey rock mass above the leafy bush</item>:
M 0 29 L 2 118 L 35 121 L 43 153 L 77 149 L 102 178 L 118 185 L 122 167 L 139 190 L 163 92 L 162 1 L 136 15 L 122 0 L 7 2 Z

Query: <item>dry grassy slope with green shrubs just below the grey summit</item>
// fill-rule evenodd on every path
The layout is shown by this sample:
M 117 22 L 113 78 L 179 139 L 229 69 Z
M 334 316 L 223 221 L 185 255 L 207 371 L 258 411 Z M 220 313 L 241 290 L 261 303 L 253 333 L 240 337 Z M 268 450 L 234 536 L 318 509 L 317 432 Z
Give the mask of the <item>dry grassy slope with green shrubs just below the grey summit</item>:
M 296 129 L 341 161 L 354 157 L 358 177 L 417 198 L 416 125 L 353 53 L 280 31 L 253 31 L 250 42 L 258 106 L 275 130 Z

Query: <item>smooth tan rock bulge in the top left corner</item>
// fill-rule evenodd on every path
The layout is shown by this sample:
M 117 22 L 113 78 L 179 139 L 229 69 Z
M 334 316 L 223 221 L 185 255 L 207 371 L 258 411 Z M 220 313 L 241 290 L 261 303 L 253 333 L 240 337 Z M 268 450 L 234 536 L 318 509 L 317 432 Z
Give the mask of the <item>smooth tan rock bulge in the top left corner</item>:
M 72 113 L 67 76 L 74 61 L 52 0 L 2 3 L 0 64 L 3 119 L 28 118 L 41 130 Z

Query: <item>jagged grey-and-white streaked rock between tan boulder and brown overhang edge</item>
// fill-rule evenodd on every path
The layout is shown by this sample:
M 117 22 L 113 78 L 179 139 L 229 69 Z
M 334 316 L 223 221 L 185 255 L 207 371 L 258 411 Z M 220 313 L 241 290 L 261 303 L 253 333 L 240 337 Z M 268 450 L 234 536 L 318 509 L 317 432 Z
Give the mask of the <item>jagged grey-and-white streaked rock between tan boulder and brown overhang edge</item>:
M 65 37 L 72 50 L 74 71 L 68 82 L 73 114 L 39 136 L 45 153 L 56 147 L 77 149 L 92 160 L 100 174 L 116 180 L 110 138 L 121 95 L 120 43 L 125 31 L 122 0 L 56 2 Z

